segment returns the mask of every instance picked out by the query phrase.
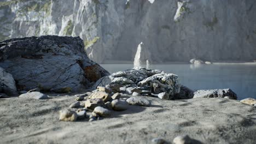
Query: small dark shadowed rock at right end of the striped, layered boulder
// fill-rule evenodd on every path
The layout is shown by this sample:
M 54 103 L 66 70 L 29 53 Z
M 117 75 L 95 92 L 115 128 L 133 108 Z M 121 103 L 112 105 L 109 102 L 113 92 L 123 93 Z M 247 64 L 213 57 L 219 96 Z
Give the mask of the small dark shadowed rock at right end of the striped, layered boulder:
M 188 87 L 181 86 L 181 91 L 179 93 L 174 94 L 173 97 L 171 97 L 171 100 L 177 100 L 177 99 L 192 99 L 194 97 L 194 91 L 189 89 Z

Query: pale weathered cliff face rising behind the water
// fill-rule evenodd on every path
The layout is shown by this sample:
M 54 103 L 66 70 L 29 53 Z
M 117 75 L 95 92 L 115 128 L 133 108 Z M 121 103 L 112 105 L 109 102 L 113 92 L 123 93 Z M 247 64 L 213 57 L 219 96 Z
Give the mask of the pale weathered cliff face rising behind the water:
M 256 59 L 254 0 L 12 0 L 0 2 L 0 40 L 72 35 L 96 62 L 133 61 L 139 43 L 152 62 Z

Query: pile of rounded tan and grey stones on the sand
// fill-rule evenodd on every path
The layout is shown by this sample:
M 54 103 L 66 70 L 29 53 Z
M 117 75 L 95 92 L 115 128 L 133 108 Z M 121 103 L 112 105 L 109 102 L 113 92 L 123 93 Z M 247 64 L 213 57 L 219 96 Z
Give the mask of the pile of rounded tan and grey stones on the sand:
M 75 95 L 75 103 L 69 109 L 60 111 L 61 121 L 77 121 L 88 118 L 89 122 L 110 117 L 112 111 L 125 111 L 130 105 L 150 106 L 149 100 L 138 97 L 121 98 L 121 93 L 115 93 L 106 87 L 97 87 L 95 91 Z M 126 96 L 126 95 L 125 95 Z M 90 114 L 89 114 L 90 113 Z

